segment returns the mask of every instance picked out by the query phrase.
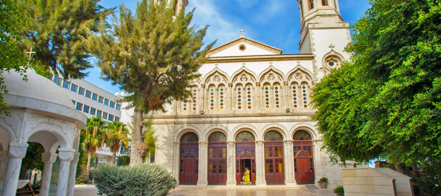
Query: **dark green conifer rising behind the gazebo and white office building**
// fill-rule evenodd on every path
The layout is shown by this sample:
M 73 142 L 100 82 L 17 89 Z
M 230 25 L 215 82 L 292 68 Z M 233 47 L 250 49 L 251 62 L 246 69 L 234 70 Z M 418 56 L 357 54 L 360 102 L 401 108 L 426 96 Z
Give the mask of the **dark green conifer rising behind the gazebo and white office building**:
M 39 66 L 50 68 L 64 78 L 84 78 L 91 67 L 85 40 L 97 32 L 100 22 L 113 12 L 98 5 L 99 0 L 18 0 L 27 25 L 19 29 L 25 40 L 22 51 L 33 47 Z M 17 18 L 20 21 L 21 18 Z M 21 27 L 21 26 L 20 26 Z

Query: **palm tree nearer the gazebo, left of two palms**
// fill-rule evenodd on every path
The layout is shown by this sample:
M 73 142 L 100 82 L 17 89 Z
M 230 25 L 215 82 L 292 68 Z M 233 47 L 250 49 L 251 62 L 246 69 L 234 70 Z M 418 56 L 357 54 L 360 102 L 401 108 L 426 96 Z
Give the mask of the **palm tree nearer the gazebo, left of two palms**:
M 100 116 L 92 116 L 92 118 L 87 118 L 86 127 L 82 129 L 86 135 L 84 138 L 84 145 L 87 152 L 86 183 L 89 182 L 90 161 L 92 156 L 98 148 L 103 146 L 105 141 L 105 124 L 106 122 Z

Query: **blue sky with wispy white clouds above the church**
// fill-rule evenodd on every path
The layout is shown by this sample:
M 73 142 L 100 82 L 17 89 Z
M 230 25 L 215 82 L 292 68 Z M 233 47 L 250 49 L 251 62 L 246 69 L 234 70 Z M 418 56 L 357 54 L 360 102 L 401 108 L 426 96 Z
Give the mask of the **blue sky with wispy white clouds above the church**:
M 280 48 L 283 54 L 299 53 L 300 16 L 296 0 L 188 0 L 186 11 L 196 7 L 192 22 L 203 27 L 209 25 L 204 41 L 217 39 L 219 46 L 239 37 L 245 37 Z M 135 11 L 136 0 L 101 0 L 100 5 L 109 8 L 124 3 Z M 339 0 L 344 21 L 353 24 L 370 6 L 365 0 Z M 86 81 L 108 92 L 119 92 L 100 78 L 100 68 L 90 68 Z

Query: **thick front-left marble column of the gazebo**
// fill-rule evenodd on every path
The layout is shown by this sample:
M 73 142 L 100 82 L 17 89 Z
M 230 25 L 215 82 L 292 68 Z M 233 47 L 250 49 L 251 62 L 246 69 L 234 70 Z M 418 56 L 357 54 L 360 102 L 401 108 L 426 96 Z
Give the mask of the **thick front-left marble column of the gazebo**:
M 17 184 L 19 183 L 20 168 L 22 159 L 26 155 L 29 144 L 9 143 L 8 163 L 6 176 L 3 183 L 2 195 L 14 196 L 17 194 Z

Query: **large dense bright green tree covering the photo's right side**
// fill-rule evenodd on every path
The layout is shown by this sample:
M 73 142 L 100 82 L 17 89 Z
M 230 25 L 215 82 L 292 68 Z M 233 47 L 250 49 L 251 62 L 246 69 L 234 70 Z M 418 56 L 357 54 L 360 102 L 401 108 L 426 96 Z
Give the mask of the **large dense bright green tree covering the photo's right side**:
M 370 0 L 346 50 L 353 56 L 312 94 L 333 161 L 441 159 L 441 2 Z

